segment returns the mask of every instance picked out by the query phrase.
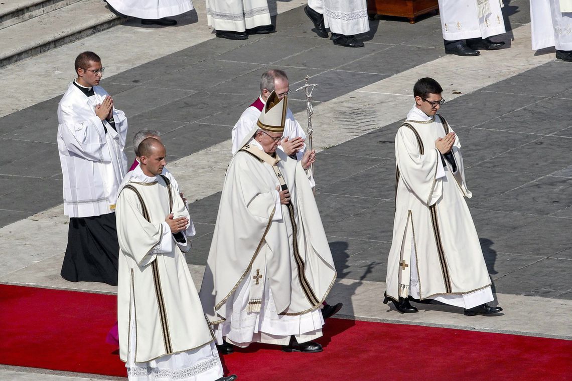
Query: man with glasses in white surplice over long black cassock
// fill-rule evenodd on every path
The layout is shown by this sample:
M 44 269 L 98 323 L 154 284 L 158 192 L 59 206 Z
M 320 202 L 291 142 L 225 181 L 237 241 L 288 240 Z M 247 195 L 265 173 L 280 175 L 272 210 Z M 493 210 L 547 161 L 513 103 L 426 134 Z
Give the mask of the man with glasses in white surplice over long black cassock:
M 84 51 L 77 78 L 58 104 L 63 212 L 70 217 L 61 275 L 71 282 L 117 285 L 115 205 L 125 176 L 127 119 L 100 85 L 101 58 Z

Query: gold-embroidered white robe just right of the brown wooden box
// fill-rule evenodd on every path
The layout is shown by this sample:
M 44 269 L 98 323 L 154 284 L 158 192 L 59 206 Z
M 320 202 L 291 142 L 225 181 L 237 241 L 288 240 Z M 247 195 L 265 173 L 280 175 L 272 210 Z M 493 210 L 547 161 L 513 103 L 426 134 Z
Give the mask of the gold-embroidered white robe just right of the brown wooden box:
M 443 39 L 487 38 L 503 34 L 501 0 L 439 0 Z

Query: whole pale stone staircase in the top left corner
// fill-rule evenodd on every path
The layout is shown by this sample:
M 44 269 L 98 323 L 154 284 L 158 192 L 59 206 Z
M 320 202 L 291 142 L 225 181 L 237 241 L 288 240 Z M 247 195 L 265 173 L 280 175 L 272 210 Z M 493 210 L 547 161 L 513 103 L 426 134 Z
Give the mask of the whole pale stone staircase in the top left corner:
M 103 0 L 0 0 L 0 68 L 123 21 Z

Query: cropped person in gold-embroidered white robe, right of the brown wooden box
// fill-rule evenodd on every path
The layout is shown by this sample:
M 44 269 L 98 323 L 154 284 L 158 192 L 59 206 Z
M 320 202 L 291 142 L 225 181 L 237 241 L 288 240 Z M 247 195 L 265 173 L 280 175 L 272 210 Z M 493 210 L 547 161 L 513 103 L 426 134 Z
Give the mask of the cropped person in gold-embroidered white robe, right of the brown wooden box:
M 468 57 L 505 45 L 489 38 L 506 31 L 502 7 L 502 0 L 439 0 L 445 53 Z

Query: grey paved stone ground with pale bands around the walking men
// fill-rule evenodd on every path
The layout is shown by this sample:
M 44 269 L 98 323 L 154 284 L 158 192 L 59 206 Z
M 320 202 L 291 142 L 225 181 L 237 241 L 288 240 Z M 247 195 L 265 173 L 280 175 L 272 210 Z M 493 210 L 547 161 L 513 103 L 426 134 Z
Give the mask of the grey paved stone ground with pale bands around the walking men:
M 105 78 L 102 86 L 129 117 L 130 137 L 144 128 L 162 131 L 169 169 L 194 200 L 198 234 L 188 257 L 194 280 L 200 284 L 212 238 L 232 125 L 256 98 L 261 71 L 281 67 L 291 89 L 306 74 L 320 84 L 313 119 L 320 150 L 316 199 L 339 278 L 329 300 L 343 300 L 340 315 L 572 337 L 572 85 L 563 81 L 570 64 L 555 61 L 553 51 L 531 51 L 528 2 L 505 3 L 507 49 L 477 58 L 443 55 L 438 17 L 415 25 L 372 21 L 366 47 L 344 49 L 317 38 L 301 7 L 293 7 L 277 17 L 276 34 L 240 43 L 200 34 L 185 49 Z M 113 37 L 125 27 L 104 33 Z M 92 43 L 98 51 L 101 45 Z M 67 51 L 65 61 L 75 54 Z M 41 60 L 30 61 L 46 65 Z M 412 85 L 423 76 L 443 85 L 447 103 L 440 113 L 463 145 L 474 194 L 468 204 L 505 307 L 498 318 L 467 318 L 442 306 L 403 316 L 381 303 L 393 221 L 394 135 L 412 105 Z M 114 292 L 59 278 L 67 219 L 59 206 L 54 144 L 61 97 L 55 95 L 65 90 L 58 81 L 59 93 L 34 94 L 33 103 L 20 101 L 19 111 L 0 119 L 0 282 Z M 304 102 L 291 95 L 289 105 L 304 125 Z M 131 147 L 127 151 L 132 159 Z M 29 231 L 45 238 L 43 246 L 30 243 Z M 25 254 L 15 254 L 22 247 Z

